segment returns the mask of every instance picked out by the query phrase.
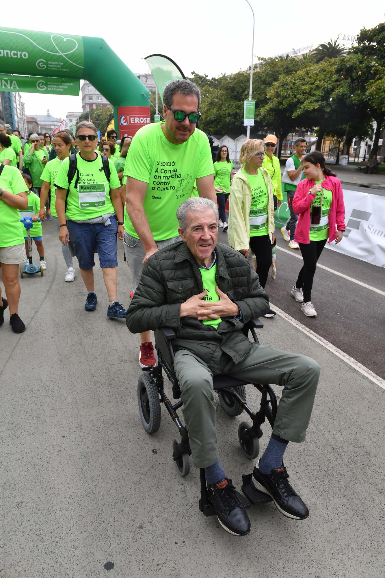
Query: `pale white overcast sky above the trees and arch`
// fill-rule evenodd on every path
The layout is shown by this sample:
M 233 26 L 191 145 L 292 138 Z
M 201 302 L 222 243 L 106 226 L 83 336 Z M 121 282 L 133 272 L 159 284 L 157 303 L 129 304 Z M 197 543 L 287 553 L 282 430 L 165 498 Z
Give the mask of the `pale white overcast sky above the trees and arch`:
M 268 57 L 317 46 L 338 34 L 358 34 L 384 21 L 383 0 L 293 2 L 249 0 L 256 17 L 254 54 Z M 11 6 L 9 4 L 9 6 Z M 18 0 L 2 10 L 2 26 L 99 36 L 133 72 L 147 72 L 141 60 L 165 54 L 186 76 L 219 76 L 246 69 L 251 61 L 253 16 L 245 0 L 174 2 L 38 2 Z M 347 46 L 351 46 L 349 42 Z M 113 71 L 111 71 L 113 73 Z M 65 118 L 82 110 L 80 97 L 22 94 L 27 114 Z

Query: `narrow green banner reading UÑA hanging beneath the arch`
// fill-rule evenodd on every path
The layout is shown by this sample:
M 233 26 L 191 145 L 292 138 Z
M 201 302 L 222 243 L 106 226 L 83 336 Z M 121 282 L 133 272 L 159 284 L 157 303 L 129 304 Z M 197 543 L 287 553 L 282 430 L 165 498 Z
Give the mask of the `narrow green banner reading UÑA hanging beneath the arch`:
M 0 92 L 37 92 L 77 97 L 80 92 L 80 80 L 0 74 Z

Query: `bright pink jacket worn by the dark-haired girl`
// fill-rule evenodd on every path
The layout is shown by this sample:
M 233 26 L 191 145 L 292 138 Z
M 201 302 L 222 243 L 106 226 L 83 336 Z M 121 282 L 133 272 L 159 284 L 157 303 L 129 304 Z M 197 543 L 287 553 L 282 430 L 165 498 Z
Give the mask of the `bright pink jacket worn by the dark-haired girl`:
M 295 240 L 297 243 L 310 243 L 310 205 L 316 195 L 309 194 L 310 188 L 314 186 L 313 179 L 303 179 L 295 191 L 293 198 L 293 210 L 298 215 L 298 223 L 295 228 Z M 328 176 L 322 181 L 322 186 L 332 192 L 332 203 L 329 213 L 329 243 L 336 238 L 336 232 L 345 229 L 345 205 L 343 204 L 343 193 L 339 179 Z

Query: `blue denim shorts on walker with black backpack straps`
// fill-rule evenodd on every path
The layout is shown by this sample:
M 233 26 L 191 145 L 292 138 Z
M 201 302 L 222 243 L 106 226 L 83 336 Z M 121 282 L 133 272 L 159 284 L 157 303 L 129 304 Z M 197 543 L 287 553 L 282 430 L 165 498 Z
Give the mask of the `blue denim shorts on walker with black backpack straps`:
M 67 221 L 69 239 L 73 244 L 80 269 L 89 271 L 94 267 L 95 251 L 101 267 L 117 267 L 117 220 L 110 217 L 111 224 L 94 225 Z

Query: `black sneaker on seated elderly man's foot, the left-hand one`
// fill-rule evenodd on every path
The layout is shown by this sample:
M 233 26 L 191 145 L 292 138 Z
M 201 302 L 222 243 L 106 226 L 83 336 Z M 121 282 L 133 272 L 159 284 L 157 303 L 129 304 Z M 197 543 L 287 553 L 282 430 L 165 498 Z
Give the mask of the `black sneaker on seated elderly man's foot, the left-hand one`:
M 240 503 L 235 488 L 227 478 L 219 484 L 207 484 L 210 499 L 220 525 L 233 536 L 245 536 L 250 532 L 251 524 L 245 506 Z

